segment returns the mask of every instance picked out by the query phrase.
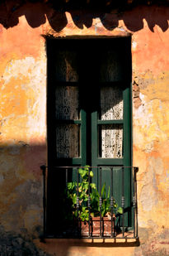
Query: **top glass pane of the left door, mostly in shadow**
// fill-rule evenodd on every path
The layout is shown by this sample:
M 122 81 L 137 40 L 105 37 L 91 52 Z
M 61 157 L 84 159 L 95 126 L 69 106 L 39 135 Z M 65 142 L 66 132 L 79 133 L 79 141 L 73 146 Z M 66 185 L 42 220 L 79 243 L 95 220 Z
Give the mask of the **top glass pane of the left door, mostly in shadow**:
M 78 81 L 76 51 L 59 51 L 55 61 L 55 77 L 57 81 Z

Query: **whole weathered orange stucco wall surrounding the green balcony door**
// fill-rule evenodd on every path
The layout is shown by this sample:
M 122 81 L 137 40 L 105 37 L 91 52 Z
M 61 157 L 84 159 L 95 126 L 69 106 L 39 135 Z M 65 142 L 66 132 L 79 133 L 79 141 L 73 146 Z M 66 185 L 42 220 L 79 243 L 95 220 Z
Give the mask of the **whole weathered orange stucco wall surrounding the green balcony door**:
M 10 7 L 9 7 L 10 8 Z M 10 15 L 9 15 L 10 14 Z M 0 24 L 0 223 L 3 232 L 38 238 L 42 232 L 42 175 L 46 163 L 45 37 L 132 36 L 133 165 L 138 171 L 140 246 L 99 246 L 100 254 L 169 255 L 169 7 L 125 12 L 57 12 L 27 3 Z M 24 234 L 25 234 L 24 233 Z M 50 243 L 50 244 L 49 244 Z M 38 247 L 63 255 L 51 241 Z M 68 242 L 65 242 L 68 243 Z M 63 243 L 63 248 L 65 248 Z M 72 242 L 71 242 L 72 243 Z M 72 246 L 72 247 L 71 247 Z M 67 244 L 65 255 L 84 255 Z M 58 250 L 58 254 L 57 254 Z M 85 247 L 85 255 L 98 247 Z M 99 255 L 100 255 L 99 254 Z

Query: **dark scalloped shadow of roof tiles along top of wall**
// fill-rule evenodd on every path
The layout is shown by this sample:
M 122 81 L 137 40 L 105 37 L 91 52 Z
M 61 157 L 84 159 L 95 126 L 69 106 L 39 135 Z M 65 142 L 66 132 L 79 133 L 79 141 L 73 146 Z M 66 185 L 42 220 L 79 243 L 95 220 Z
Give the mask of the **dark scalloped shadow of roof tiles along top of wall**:
M 92 19 L 99 17 L 104 27 L 112 31 L 118 27 L 119 20 L 123 20 L 129 31 L 139 31 L 143 29 L 143 19 L 148 23 L 148 27 L 153 31 L 157 25 L 162 31 L 168 29 L 169 8 L 162 6 L 139 6 L 128 8 L 125 12 L 114 10 L 112 13 L 89 12 L 85 9 L 80 11 L 68 11 L 71 13 L 74 24 L 82 29 L 92 27 Z M 61 31 L 67 26 L 68 20 L 65 12 L 58 11 L 51 7 L 49 3 L 21 3 L 21 1 L 5 1 L 0 4 L 0 23 L 3 27 L 14 27 L 19 22 L 19 17 L 26 17 L 28 24 L 35 28 L 45 24 L 46 18 L 54 31 Z M 132 16 L 132 18 L 131 18 Z

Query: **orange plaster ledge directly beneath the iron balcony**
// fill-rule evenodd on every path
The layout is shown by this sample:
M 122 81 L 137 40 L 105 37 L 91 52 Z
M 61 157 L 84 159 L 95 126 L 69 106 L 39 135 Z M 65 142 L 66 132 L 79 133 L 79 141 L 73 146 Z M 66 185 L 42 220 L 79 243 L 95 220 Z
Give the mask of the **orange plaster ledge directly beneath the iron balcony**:
M 130 256 L 139 245 L 137 239 L 34 239 L 34 243 L 47 254 L 57 256 Z

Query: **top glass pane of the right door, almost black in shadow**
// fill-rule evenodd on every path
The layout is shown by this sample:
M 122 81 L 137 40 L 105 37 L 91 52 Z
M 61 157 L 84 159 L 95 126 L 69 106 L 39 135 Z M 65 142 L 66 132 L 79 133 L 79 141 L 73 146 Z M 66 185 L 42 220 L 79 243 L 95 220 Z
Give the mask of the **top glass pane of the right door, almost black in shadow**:
M 120 51 L 105 51 L 101 58 L 100 81 L 112 82 L 124 80 L 124 60 Z

